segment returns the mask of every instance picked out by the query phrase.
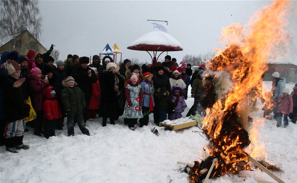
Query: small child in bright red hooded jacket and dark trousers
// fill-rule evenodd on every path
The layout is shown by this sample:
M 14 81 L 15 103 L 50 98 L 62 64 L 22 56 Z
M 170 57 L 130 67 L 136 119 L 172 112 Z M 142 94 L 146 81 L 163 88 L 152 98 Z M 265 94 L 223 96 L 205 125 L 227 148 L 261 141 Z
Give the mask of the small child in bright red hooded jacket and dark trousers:
M 57 121 L 62 118 L 59 103 L 56 100 L 56 91 L 52 86 L 45 89 L 45 101 L 43 102 L 43 114 L 45 119 L 44 137 L 55 136 Z

